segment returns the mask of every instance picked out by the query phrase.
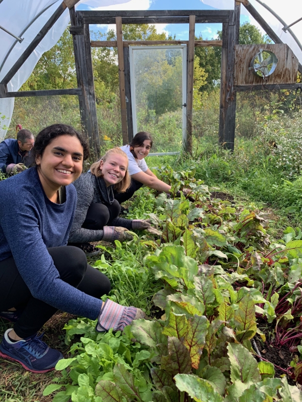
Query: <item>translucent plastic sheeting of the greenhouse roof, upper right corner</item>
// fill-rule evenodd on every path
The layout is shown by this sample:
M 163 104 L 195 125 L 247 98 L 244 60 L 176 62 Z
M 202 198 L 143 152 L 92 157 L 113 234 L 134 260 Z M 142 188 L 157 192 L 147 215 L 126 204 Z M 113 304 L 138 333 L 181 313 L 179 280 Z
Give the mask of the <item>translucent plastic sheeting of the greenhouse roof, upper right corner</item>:
M 201 0 L 202 3 L 215 7 L 218 10 L 234 10 L 234 0 Z M 260 3 L 257 0 L 249 0 L 250 4 L 258 11 L 265 22 L 272 28 L 276 35 L 282 42 L 286 43 L 293 51 L 299 62 L 302 64 L 302 50 L 287 31 L 284 32 L 284 27 L 280 21 L 268 11 L 262 4 L 268 6 L 286 25 L 290 25 L 302 17 L 301 0 L 286 0 L 286 2 L 276 0 L 261 0 Z M 241 14 L 250 16 L 244 5 L 241 5 Z M 252 24 L 259 27 L 259 24 L 252 18 Z M 290 27 L 293 34 L 302 44 L 302 20 Z

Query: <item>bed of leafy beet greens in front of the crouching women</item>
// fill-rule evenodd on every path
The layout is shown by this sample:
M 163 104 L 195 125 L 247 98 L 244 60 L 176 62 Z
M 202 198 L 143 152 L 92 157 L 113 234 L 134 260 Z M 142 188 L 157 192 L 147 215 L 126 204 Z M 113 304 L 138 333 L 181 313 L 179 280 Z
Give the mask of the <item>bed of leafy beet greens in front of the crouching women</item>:
M 111 275 L 111 297 L 158 308 L 161 318 L 135 320 L 122 334 L 97 334 L 95 322 L 70 321 L 66 342 L 82 338 L 56 366 L 65 390 L 55 384 L 44 393 L 91 402 L 299 400 L 298 388 L 274 378 L 272 364 L 256 361 L 251 339 L 260 317 L 276 328 L 272 345 L 293 346 L 302 337 L 293 326 L 302 312 L 302 232 L 287 228 L 283 240 L 271 243 L 263 217 L 210 199 L 194 168 L 161 170 L 175 194 L 192 189 L 190 199 L 162 194 L 153 204 L 148 193 L 161 241 L 143 235 L 116 242 L 115 249 L 102 247 L 107 257 L 96 262 Z M 140 199 L 130 214 L 138 214 Z

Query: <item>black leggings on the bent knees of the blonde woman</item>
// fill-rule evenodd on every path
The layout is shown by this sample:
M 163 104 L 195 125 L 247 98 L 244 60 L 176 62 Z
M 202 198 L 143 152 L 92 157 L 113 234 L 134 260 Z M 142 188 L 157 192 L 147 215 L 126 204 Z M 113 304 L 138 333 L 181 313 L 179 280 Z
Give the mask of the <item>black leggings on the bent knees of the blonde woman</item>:
M 90 230 L 103 229 L 107 224 L 110 226 L 110 222 L 117 218 L 120 212 L 121 206 L 116 199 L 111 205 L 99 203 L 91 204 L 87 211 L 86 219 L 82 228 Z

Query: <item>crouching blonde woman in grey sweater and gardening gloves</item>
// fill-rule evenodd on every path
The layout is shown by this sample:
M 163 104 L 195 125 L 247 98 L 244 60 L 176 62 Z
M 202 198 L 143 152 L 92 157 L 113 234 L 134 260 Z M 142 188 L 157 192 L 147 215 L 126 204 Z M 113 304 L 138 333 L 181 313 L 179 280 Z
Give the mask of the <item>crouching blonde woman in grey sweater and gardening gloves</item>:
M 113 191 L 123 194 L 129 184 L 128 158 L 120 148 L 110 149 L 89 172 L 81 174 L 73 183 L 78 201 L 68 244 L 82 248 L 87 255 L 96 255 L 100 249 L 90 242 L 124 241 L 132 238 L 127 230 L 147 229 L 148 221 L 118 218 L 121 206 Z

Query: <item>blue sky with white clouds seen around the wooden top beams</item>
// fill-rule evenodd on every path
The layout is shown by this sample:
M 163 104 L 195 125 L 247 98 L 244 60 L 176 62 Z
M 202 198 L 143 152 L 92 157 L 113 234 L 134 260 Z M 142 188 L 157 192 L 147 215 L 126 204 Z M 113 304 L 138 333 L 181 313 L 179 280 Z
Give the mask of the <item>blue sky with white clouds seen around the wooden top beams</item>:
M 135 8 L 135 3 L 137 8 Z M 145 6 L 145 7 L 143 7 Z M 93 8 L 89 6 L 89 1 L 86 4 L 81 4 L 78 10 L 92 10 Z M 100 8 L 99 8 L 100 9 Z M 145 2 L 143 0 L 131 0 L 129 3 L 121 4 L 118 6 L 113 6 L 112 10 L 215 10 L 211 6 L 203 4 L 200 0 L 188 0 L 184 2 L 183 0 L 152 0 Z M 106 7 L 106 10 L 110 10 L 110 7 Z M 241 23 L 249 21 L 249 17 L 242 15 Z M 110 26 L 114 28 L 114 26 Z M 176 39 L 188 40 L 189 39 L 189 24 L 169 24 L 169 25 L 157 25 L 158 32 L 165 31 L 169 35 L 176 35 Z M 102 33 L 108 31 L 108 25 L 106 26 L 91 26 L 93 30 L 99 30 Z M 204 40 L 212 39 L 217 37 L 217 31 L 222 29 L 221 24 L 196 24 L 195 35 L 202 36 Z

